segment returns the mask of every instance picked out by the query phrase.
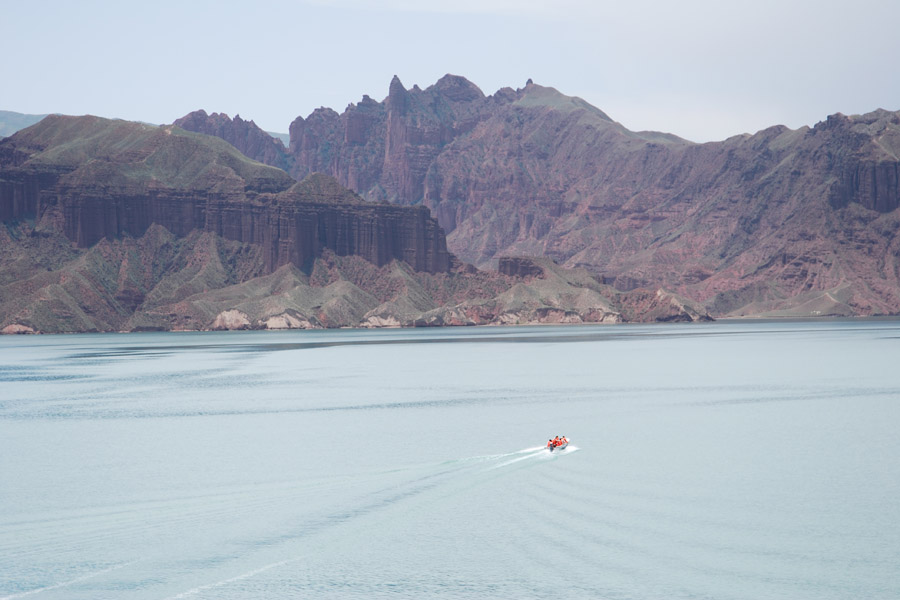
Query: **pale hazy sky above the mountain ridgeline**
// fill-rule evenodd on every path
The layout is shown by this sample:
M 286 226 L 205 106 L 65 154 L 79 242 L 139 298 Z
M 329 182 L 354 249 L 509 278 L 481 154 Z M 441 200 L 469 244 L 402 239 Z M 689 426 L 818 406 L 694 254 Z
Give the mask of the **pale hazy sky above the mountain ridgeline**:
M 0 0 L 0 110 L 170 123 L 203 108 L 286 132 L 463 75 L 535 83 L 695 141 L 900 110 L 900 1 Z

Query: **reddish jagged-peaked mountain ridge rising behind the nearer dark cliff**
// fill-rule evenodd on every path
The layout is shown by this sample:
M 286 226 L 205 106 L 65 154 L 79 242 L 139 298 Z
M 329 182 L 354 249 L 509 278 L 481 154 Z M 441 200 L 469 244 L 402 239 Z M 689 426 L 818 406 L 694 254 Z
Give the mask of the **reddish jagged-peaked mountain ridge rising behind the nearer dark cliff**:
M 530 81 L 486 96 L 447 75 L 424 90 L 395 77 L 383 101 L 290 132 L 278 160 L 295 178 L 425 205 L 479 266 L 548 256 L 718 315 L 900 313 L 900 113 L 695 144 Z

